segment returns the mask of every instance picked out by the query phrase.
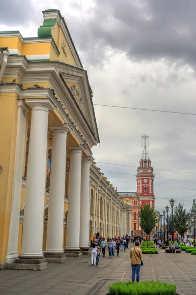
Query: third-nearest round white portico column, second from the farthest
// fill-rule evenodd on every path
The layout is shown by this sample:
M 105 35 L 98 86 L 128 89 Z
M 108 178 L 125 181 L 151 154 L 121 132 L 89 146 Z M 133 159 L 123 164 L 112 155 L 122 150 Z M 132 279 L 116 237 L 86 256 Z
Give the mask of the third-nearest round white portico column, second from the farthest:
M 81 166 L 83 148 L 75 147 L 70 149 L 66 254 L 68 251 L 80 251 Z

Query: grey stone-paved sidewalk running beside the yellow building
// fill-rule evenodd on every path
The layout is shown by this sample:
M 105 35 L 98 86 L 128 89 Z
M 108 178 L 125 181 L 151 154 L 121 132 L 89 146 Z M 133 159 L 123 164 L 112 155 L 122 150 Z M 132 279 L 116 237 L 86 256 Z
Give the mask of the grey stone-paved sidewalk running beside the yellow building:
M 131 279 L 129 252 L 109 258 L 106 251 L 98 266 L 91 266 L 90 255 L 83 255 L 42 271 L 0 270 L 0 295 L 106 295 L 112 283 Z M 159 250 L 157 255 L 145 254 L 143 262 L 141 281 L 176 284 L 179 295 L 196 295 L 196 256 Z

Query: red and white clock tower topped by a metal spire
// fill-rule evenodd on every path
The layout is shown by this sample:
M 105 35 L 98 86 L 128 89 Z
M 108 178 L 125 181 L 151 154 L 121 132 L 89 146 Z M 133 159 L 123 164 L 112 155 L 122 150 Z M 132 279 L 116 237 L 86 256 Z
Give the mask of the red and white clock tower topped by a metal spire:
M 137 169 L 137 193 L 140 199 L 140 205 L 144 203 L 154 207 L 154 174 L 149 159 L 147 144 L 148 136 L 143 135 L 142 139 L 142 155 L 140 160 L 140 167 Z

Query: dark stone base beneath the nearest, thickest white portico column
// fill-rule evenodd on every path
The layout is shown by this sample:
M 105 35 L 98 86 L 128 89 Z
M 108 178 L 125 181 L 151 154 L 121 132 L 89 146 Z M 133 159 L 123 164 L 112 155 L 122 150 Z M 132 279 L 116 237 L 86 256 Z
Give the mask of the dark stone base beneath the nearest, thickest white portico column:
M 43 270 L 48 267 L 47 259 L 15 259 L 14 263 L 6 264 L 7 269 Z

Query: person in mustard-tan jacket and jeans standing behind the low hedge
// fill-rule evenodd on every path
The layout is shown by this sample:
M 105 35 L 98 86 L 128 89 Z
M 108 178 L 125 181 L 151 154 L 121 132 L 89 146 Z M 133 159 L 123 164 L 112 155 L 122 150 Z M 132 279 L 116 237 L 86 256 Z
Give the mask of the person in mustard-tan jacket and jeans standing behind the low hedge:
M 132 282 L 135 282 L 135 275 L 137 283 L 140 282 L 140 267 L 141 267 L 141 259 L 142 259 L 142 252 L 141 249 L 138 247 L 139 242 L 135 242 L 135 247 L 130 251 L 130 258 L 131 258 L 131 267 L 132 267 Z

